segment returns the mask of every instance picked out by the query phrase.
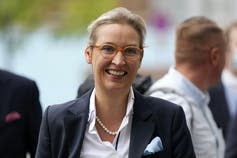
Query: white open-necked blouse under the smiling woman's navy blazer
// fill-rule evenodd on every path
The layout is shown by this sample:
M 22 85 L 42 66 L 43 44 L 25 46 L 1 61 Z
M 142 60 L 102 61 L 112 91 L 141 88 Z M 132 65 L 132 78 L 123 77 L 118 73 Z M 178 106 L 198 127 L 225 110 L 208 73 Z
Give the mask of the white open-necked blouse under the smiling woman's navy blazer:
M 134 93 L 130 89 L 127 111 L 113 143 L 102 141 L 96 130 L 95 89 L 90 97 L 89 118 L 81 150 L 81 158 L 128 158 L 132 126 Z

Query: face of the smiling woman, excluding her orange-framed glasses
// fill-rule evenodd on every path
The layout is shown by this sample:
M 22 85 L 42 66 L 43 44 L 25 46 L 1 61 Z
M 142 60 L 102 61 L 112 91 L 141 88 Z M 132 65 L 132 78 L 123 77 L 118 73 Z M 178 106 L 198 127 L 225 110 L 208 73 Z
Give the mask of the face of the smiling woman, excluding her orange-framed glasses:
M 105 24 L 96 31 L 93 45 L 114 45 L 119 48 L 127 46 L 139 48 L 140 37 L 136 30 L 127 24 Z M 129 90 L 141 65 L 143 52 L 136 60 L 128 60 L 118 51 L 112 58 L 105 58 L 100 48 L 88 47 L 85 50 L 86 60 L 92 64 L 95 86 L 109 92 Z

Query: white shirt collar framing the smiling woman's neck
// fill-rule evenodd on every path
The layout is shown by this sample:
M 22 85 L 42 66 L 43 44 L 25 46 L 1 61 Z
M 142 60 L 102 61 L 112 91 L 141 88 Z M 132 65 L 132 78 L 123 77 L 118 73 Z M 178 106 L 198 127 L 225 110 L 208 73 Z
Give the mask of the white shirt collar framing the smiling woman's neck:
M 134 92 L 132 87 L 130 88 L 129 96 L 128 96 L 128 103 L 125 117 L 131 117 L 133 114 L 133 104 L 134 104 Z M 93 89 L 91 96 L 90 96 L 90 105 L 89 105 L 89 132 L 95 133 L 95 118 L 96 118 L 96 109 L 95 109 L 95 88 Z

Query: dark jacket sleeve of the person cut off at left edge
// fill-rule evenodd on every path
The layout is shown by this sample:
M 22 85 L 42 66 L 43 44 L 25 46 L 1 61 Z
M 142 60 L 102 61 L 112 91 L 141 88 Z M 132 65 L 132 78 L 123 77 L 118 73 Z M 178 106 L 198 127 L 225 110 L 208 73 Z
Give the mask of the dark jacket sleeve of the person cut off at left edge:
M 37 143 L 38 135 L 40 129 L 40 123 L 42 120 L 42 108 L 39 101 L 39 90 L 35 82 L 30 82 L 31 84 L 27 87 L 26 98 L 28 98 L 27 103 L 27 119 L 26 119 L 26 138 L 27 138 L 27 148 L 30 152 L 31 157 L 34 157 Z

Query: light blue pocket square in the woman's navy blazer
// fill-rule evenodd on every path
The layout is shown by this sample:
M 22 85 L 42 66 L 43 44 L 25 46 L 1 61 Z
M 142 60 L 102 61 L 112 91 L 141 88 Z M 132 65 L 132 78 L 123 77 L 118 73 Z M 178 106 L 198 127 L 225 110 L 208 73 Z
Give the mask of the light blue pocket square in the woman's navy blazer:
M 154 139 L 152 139 L 150 144 L 147 145 L 146 149 L 144 150 L 143 155 L 146 156 L 146 155 L 154 154 L 162 150 L 163 150 L 163 145 L 162 145 L 160 137 L 155 137 Z

